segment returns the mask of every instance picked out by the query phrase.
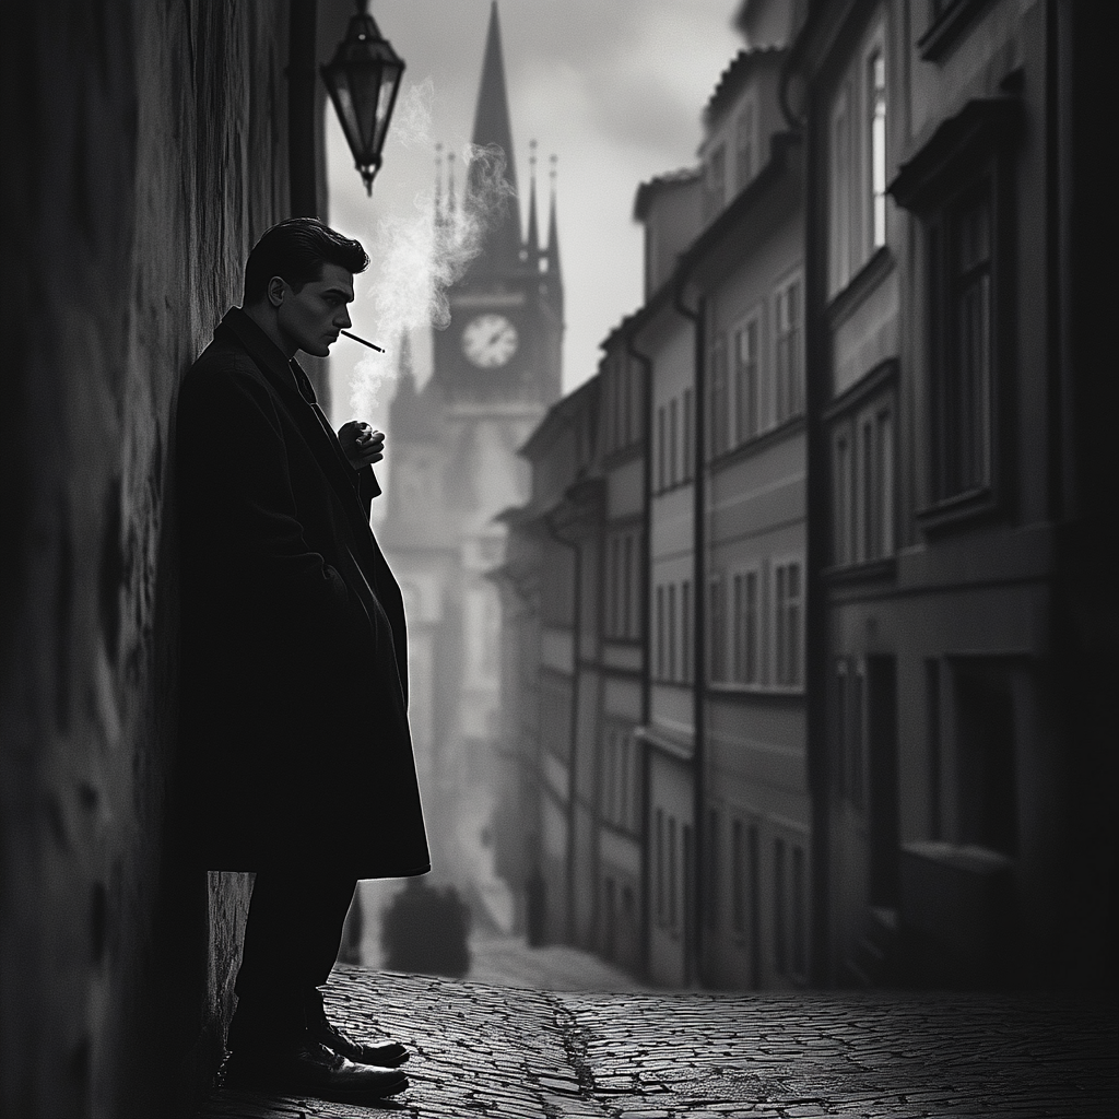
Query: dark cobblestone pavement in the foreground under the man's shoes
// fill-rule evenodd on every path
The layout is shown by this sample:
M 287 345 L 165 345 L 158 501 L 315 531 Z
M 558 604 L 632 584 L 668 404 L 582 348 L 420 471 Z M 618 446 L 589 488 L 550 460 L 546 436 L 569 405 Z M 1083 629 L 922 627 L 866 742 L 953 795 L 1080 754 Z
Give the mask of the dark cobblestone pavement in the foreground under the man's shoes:
M 198 1119 L 1119 1115 L 1113 1003 L 547 993 L 337 968 L 328 1010 L 412 1049 L 407 1092 L 356 1107 L 223 1090 Z

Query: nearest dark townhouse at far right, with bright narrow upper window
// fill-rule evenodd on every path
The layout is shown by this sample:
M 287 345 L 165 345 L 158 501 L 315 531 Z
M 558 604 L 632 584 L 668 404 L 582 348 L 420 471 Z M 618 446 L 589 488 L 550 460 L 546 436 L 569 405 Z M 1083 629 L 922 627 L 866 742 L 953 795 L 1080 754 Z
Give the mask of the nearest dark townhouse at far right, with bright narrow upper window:
M 1072 568 L 1115 600 L 1064 543 L 1113 516 L 1062 290 L 1092 7 L 837 2 L 797 45 L 831 981 L 1052 984 L 1101 927 Z

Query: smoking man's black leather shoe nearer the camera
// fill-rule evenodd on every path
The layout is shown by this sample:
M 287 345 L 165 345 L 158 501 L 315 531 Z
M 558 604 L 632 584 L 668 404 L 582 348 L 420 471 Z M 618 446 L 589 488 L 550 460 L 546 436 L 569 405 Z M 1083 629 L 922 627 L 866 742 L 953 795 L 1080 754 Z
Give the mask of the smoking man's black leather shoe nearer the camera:
M 282 1050 L 233 1053 L 225 1087 L 311 1096 L 333 1103 L 360 1103 L 403 1092 L 408 1078 L 395 1069 L 356 1064 L 326 1045 L 303 1040 Z

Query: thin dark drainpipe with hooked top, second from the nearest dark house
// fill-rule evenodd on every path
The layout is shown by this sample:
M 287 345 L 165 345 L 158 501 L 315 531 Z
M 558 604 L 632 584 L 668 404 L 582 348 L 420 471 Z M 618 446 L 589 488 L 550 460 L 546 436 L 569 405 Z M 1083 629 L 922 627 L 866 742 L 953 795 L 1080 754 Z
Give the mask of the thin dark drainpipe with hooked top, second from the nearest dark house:
M 704 683 L 707 679 L 707 653 L 706 653 L 706 614 L 704 603 L 706 595 L 706 533 L 705 526 L 705 504 L 706 486 L 704 478 L 704 459 L 706 457 L 706 373 L 704 361 L 704 314 L 705 302 L 700 298 L 695 308 L 687 307 L 684 302 L 684 283 L 687 279 L 687 267 L 681 267 L 676 282 L 676 291 L 673 295 L 673 308 L 685 319 L 690 319 L 695 333 L 695 408 L 693 422 L 695 423 L 695 440 L 693 441 L 693 467 L 692 467 L 692 725 L 695 742 L 693 746 L 693 875 L 695 891 L 693 901 L 695 912 L 690 914 L 694 922 L 692 950 L 695 957 L 695 976 L 703 980 L 703 901 L 704 897 L 704 811 L 707 798 L 704 789 L 704 763 L 706 750 L 704 742 L 707 734 L 706 703 L 704 696 Z

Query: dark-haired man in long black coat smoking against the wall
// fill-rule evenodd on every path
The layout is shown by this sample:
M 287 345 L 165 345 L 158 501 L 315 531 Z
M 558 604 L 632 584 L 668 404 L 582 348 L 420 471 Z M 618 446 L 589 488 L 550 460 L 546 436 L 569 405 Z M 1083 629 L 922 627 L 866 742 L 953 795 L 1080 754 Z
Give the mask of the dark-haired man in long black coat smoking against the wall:
M 356 883 L 431 868 L 404 606 L 369 527 L 384 436 L 336 435 L 295 360 L 350 326 L 368 262 L 312 218 L 269 229 L 178 410 L 188 840 L 256 872 L 229 1079 L 341 1101 L 407 1087 L 402 1045 L 323 1013 Z

